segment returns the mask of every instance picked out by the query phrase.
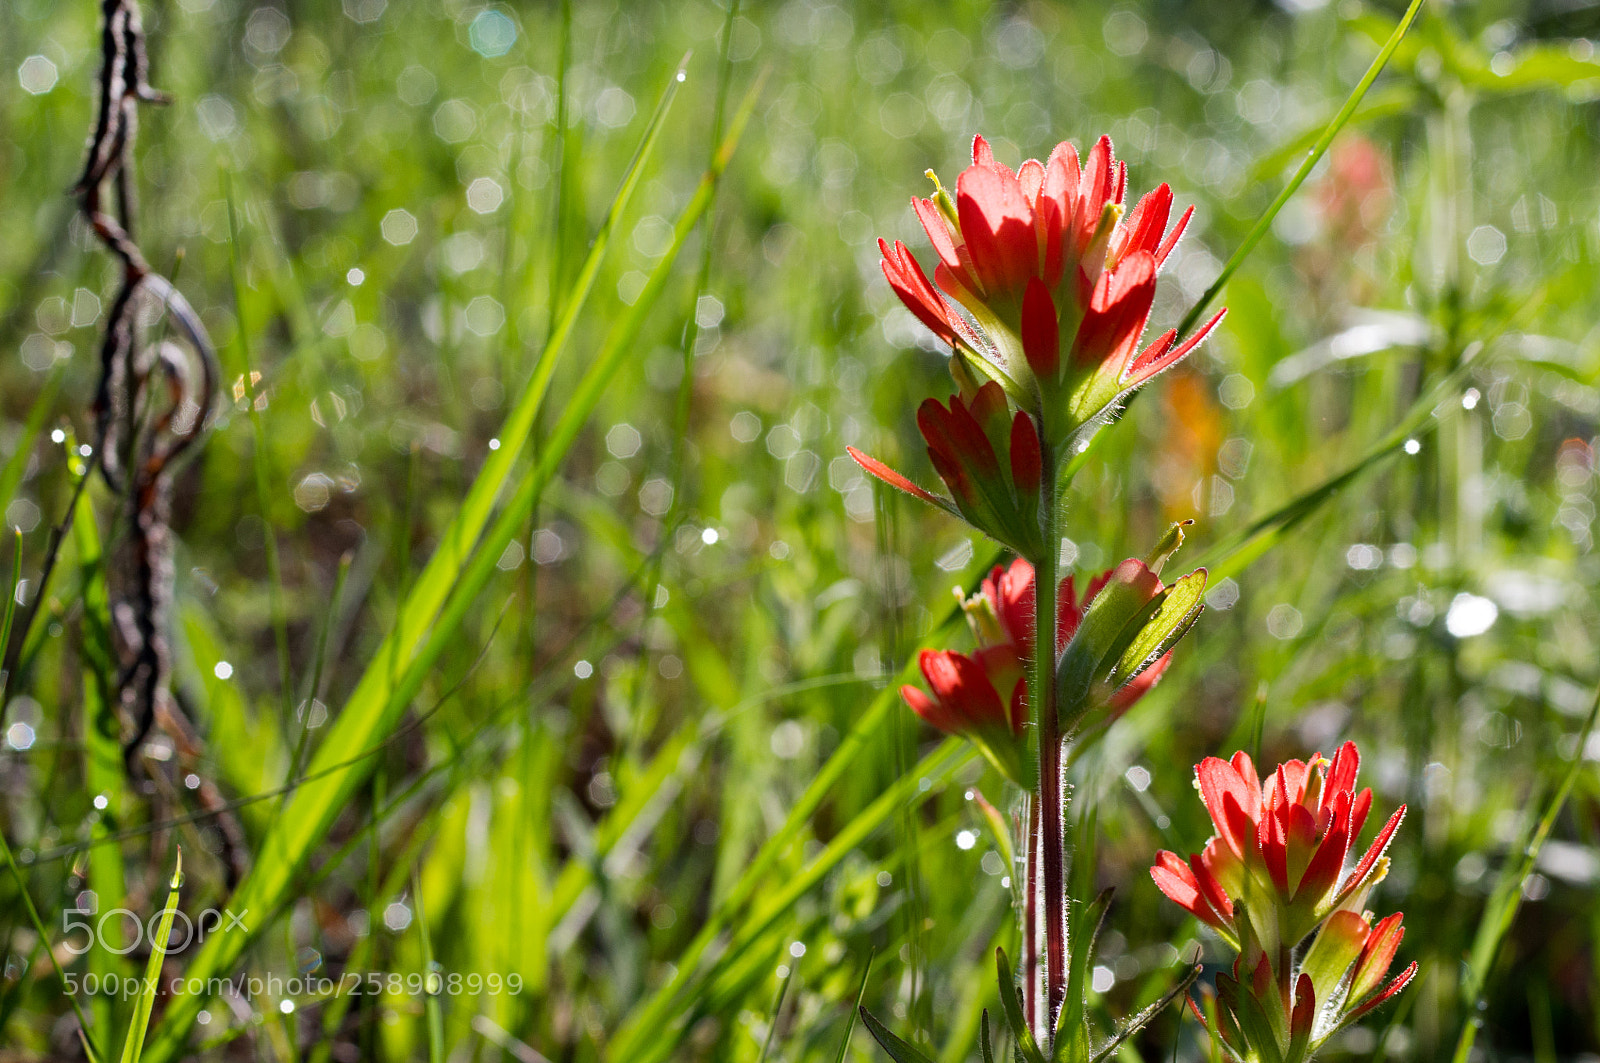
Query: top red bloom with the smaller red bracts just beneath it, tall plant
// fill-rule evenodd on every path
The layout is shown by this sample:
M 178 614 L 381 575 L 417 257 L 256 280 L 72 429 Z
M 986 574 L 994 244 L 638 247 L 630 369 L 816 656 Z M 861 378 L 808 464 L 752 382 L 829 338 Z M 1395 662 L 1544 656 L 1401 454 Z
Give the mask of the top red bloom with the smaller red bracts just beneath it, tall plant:
M 939 255 L 934 280 L 899 240 L 878 245 L 894 293 L 950 344 L 960 394 L 949 405 L 925 402 L 917 424 L 955 503 L 851 455 L 1032 557 L 1042 544 L 1027 498 L 1038 490 L 1040 448 L 1066 453 L 1130 392 L 1194 351 L 1222 314 L 1182 343 L 1170 330 L 1139 349 L 1155 274 L 1194 208 L 1168 227 L 1173 192 L 1163 184 L 1125 216 L 1128 165 L 1117 162 L 1110 138 L 1082 162 L 1062 142 L 1048 162 L 1030 158 L 1013 171 L 979 136 L 954 197 L 933 181 L 933 197 L 912 203 Z

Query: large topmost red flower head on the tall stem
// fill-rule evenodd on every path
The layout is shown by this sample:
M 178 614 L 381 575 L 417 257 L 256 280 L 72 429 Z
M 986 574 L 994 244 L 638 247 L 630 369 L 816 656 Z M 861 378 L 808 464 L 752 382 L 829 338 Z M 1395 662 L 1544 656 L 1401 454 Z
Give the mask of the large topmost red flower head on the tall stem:
M 979 136 L 954 197 L 934 178 L 933 197 L 912 200 L 939 255 L 934 282 L 904 243 L 878 242 L 894 293 L 955 351 L 957 379 L 997 381 L 1062 447 L 1194 351 L 1222 315 L 1182 343 L 1168 331 L 1138 349 L 1155 274 L 1194 208 L 1168 229 L 1173 192 L 1162 184 L 1125 216 L 1126 187 L 1110 138 L 1082 162 L 1062 142 L 1048 162 L 1013 171 Z

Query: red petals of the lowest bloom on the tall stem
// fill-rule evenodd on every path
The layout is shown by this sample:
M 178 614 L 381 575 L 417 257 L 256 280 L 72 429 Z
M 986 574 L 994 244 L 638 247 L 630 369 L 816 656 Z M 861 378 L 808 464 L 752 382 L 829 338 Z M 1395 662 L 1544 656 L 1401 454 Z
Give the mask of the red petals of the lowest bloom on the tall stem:
M 1141 565 L 1142 562 L 1125 562 Z M 1083 594 L 1075 576 L 1058 589 L 1056 650 L 1077 634 L 1090 604 L 1118 570 L 1090 580 Z M 1158 581 L 1157 581 L 1158 583 Z M 928 696 L 912 685 L 901 687 L 907 704 L 926 722 L 950 735 L 971 738 L 1008 778 L 1021 778 L 1024 757 L 1022 728 L 1027 724 L 1027 661 L 1034 653 L 1034 567 L 1016 559 L 1010 567 L 995 565 L 979 592 L 962 602 L 966 621 L 978 639 L 968 656 L 954 650 L 923 650 L 918 660 Z M 1126 711 L 1142 698 L 1166 671 L 1171 653 L 1117 688 L 1106 701 L 1110 716 Z

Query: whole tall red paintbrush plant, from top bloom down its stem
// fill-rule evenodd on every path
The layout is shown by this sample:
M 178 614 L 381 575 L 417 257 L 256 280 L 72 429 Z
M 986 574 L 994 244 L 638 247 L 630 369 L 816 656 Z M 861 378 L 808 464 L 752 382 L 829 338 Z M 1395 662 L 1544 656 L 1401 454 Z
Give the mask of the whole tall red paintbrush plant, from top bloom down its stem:
M 850 455 L 1018 556 L 962 600 L 976 648 L 925 650 L 928 690 L 907 685 L 902 695 L 1032 794 L 1029 821 L 1016 824 L 1029 852 L 1029 869 L 1016 879 L 1027 991 L 1006 1021 L 1018 1045 L 1053 1045 L 1059 1023 L 1075 1023 L 1069 1039 L 1088 1036 L 1086 997 L 1067 999 L 1067 746 L 1098 736 L 1155 685 L 1200 615 L 1206 583 L 1203 568 L 1162 581 L 1181 525 L 1144 560 L 1128 559 L 1086 584 L 1062 578 L 1061 488 L 1090 434 L 1194 351 L 1218 319 L 1182 341 L 1168 331 L 1141 349 L 1157 271 L 1192 211 L 1170 224 L 1165 184 L 1128 211 L 1128 168 L 1107 138 L 1082 157 L 1059 144 L 1048 162 L 1014 171 L 976 138 L 954 195 L 928 176 L 933 195 L 912 203 L 939 256 L 933 280 L 904 243 L 878 247 L 890 287 L 950 351 L 955 394 L 917 410 L 949 495 L 854 448 Z M 1003 954 L 998 973 L 1002 994 L 1014 997 L 1016 972 Z M 893 1034 L 874 1033 L 894 1044 Z

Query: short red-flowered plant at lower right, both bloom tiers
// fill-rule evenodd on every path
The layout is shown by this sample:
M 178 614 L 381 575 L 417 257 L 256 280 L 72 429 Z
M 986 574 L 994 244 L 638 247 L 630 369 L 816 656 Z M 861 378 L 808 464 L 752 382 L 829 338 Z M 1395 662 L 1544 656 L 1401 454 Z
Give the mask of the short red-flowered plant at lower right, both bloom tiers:
M 1238 954 L 1208 1007 L 1213 1033 L 1238 1060 L 1301 1063 L 1416 973 L 1411 964 L 1384 985 L 1405 930 L 1398 913 L 1373 925 L 1363 911 L 1389 871 L 1384 852 L 1405 805 L 1352 866 L 1373 805 L 1371 789 L 1355 792 L 1358 768 L 1349 741 L 1333 760 L 1280 764 L 1266 784 L 1245 752 L 1206 757 L 1195 781 L 1216 834 L 1187 861 L 1163 850 L 1150 868 L 1166 897 Z

